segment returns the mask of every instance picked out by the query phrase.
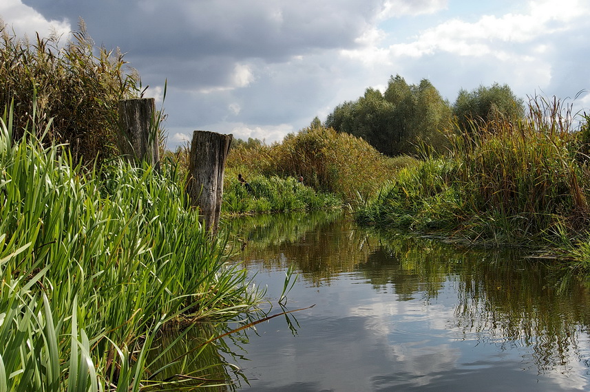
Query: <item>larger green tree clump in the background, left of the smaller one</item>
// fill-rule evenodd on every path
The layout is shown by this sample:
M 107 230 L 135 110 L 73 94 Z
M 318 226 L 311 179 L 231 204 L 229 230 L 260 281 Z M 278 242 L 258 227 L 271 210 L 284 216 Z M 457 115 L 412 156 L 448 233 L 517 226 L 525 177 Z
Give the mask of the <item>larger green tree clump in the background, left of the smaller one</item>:
M 326 127 L 364 138 L 387 155 L 443 151 L 439 132 L 447 127 L 451 109 L 432 84 L 408 85 L 391 77 L 384 94 L 367 89 L 356 101 L 344 102 L 326 118 Z

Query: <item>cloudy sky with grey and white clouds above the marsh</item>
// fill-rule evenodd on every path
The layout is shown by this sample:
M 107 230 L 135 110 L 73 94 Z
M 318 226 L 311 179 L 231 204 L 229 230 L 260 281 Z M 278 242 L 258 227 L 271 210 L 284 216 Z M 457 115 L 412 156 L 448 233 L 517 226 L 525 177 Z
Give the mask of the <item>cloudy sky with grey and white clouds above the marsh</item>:
M 0 2 L 18 36 L 67 39 L 79 18 L 149 85 L 170 149 L 197 129 L 280 142 L 398 74 L 451 104 L 500 83 L 590 112 L 588 0 Z

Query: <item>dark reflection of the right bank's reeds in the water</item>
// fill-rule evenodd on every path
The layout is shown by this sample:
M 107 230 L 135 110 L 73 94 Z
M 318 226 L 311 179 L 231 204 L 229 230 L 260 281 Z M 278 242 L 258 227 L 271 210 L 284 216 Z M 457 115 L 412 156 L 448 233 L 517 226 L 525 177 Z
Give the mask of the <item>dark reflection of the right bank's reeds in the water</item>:
M 399 236 L 383 237 L 381 244 L 369 259 L 390 270 L 370 268 L 366 276 L 393 283 L 401 300 L 418 292 L 436 298 L 443 283 L 452 285 L 458 301 L 449 327 L 460 338 L 501 350 L 530 347 L 540 373 L 567 371 L 571 361 L 582 360 L 578 342 L 590 325 L 590 293 L 567 272 L 527 259 L 523 250 L 460 248 Z

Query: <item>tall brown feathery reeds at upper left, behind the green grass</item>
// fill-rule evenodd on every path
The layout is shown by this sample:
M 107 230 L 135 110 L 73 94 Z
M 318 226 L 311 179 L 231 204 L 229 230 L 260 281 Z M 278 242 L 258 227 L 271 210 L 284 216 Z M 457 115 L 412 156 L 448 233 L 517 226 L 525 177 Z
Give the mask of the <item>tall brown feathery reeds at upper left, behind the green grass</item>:
M 139 80 L 120 51 L 94 46 L 83 21 L 72 34 L 30 43 L 0 25 L 0 105 L 14 102 L 15 140 L 52 118 L 45 142 L 69 143 L 76 162 L 91 162 L 116 155 L 118 100 L 138 96 Z

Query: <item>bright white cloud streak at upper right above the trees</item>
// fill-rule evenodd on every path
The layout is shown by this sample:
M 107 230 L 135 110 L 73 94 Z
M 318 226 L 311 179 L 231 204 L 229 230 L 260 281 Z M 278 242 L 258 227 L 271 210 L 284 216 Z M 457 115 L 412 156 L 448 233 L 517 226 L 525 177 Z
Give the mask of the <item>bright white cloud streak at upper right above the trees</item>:
M 392 6 L 393 3 L 388 4 Z M 437 5 L 439 8 L 441 6 L 442 4 Z M 374 45 L 342 50 L 341 54 L 366 64 L 391 63 L 388 58 L 419 58 L 437 52 L 459 56 L 493 56 L 500 60 L 509 60 L 514 56 L 526 56 L 527 52 L 546 52 L 547 44 L 538 44 L 535 41 L 541 37 L 550 38 L 552 34 L 571 28 L 570 23 L 574 19 L 583 23 L 589 15 L 589 6 L 579 0 L 531 1 L 527 14 L 508 13 L 502 17 L 483 15 L 473 23 L 451 19 L 423 30 L 409 42 L 393 43 L 387 48 L 375 45 L 382 39 L 382 34 L 370 30 L 360 39 Z M 518 45 L 527 43 L 531 43 L 531 47 Z

